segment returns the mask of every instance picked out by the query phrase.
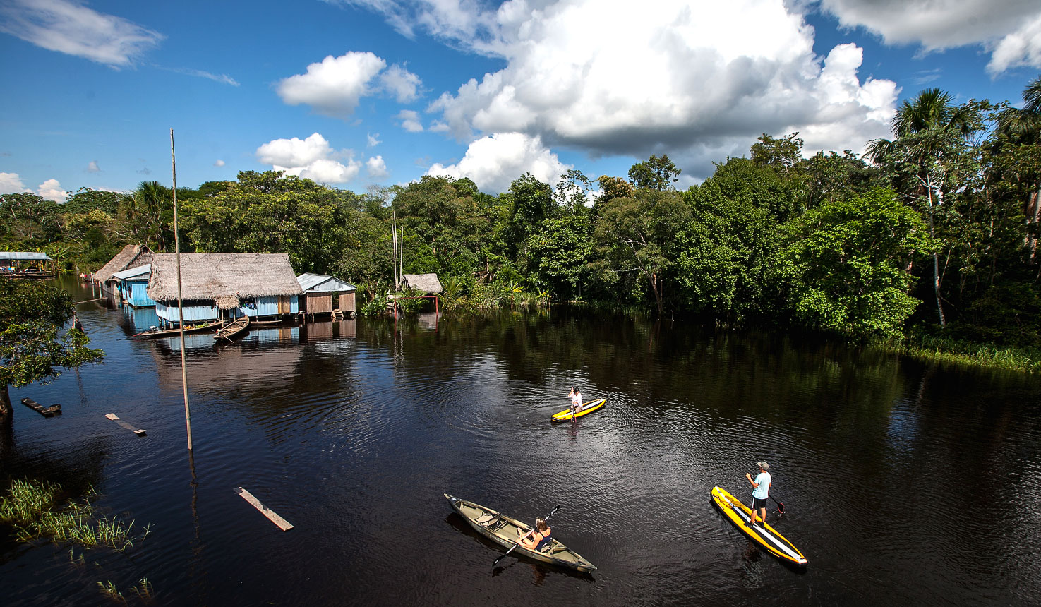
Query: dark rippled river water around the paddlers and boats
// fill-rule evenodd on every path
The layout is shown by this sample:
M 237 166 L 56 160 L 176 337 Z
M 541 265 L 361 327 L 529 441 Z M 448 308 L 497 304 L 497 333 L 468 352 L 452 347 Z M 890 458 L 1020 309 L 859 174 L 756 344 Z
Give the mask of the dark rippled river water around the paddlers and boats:
M 157 605 L 1038 601 L 1035 377 L 562 309 L 263 328 L 189 337 L 189 458 L 177 340 L 128 338 L 154 311 L 103 303 L 78 309 L 105 362 L 12 389 L 0 464 L 93 484 L 103 513 L 151 531 L 75 561 L 68 545 L 0 542 L 7 607 L 108 604 L 98 582 L 142 604 L 142 578 Z M 573 384 L 607 406 L 551 424 Z M 762 459 L 805 572 L 711 505 L 716 485 L 747 502 Z M 529 522 L 559 504 L 554 535 L 599 570 L 513 555 L 493 570 L 503 550 L 446 492 Z

